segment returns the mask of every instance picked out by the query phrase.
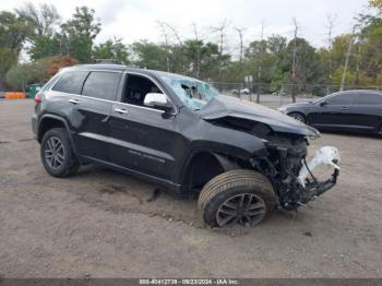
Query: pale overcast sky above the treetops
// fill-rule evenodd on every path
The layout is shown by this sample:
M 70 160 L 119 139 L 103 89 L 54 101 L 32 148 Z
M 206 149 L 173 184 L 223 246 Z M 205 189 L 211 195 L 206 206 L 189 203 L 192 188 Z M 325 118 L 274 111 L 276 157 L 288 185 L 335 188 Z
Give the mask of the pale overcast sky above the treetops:
M 0 10 L 13 10 L 24 0 L 1 0 Z M 327 14 L 336 15 L 334 35 L 349 33 L 354 16 L 365 10 L 367 0 L 34 0 L 33 3 L 52 3 L 63 19 L 69 19 L 76 5 L 88 5 L 96 11 L 103 29 L 96 41 L 112 37 L 123 38 L 126 44 L 140 39 L 162 40 L 157 21 L 176 26 L 182 37 L 193 36 L 192 23 L 207 39 L 216 37 L 210 27 L 224 19 L 231 27 L 246 27 L 244 39 L 261 37 L 261 23 L 264 35 L 279 34 L 291 37 L 291 19 L 300 26 L 299 36 L 306 37 L 315 47 L 326 45 Z M 229 33 L 230 49 L 235 53 L 238 37 Z

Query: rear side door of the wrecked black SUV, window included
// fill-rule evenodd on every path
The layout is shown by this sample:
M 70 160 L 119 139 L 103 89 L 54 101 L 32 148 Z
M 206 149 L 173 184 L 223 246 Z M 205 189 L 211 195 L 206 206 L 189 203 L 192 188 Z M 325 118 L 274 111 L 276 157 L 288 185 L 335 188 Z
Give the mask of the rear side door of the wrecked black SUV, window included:
M 82 93 L 71 102 L 76 112 L 75 143 L 82 156 L 108 160 L 111 106 L 116 100 L 122 73 L 91 71 Z

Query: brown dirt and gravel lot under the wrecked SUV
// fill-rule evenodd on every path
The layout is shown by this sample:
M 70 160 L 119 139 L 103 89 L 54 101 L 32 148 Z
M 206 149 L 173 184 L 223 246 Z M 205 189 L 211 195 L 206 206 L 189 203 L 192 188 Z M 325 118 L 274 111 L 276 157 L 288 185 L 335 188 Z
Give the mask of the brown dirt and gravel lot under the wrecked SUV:
M 0 102 L 0 276 L 382 277 L 382 140 L 323 134 L 342 153 L 338 186 L 296 216 L 207 229 L 196 202 L 88 166 L 47 175 L 32 100 Z

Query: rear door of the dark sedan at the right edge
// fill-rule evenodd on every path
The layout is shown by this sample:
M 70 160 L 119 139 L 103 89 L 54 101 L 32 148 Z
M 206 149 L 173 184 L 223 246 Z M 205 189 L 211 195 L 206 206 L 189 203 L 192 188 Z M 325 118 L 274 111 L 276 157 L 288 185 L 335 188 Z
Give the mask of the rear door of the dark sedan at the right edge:
M 382 124 L 382 94 L 359 92 L 355 105 L 350 110 L 359 130 L 380 131 Z

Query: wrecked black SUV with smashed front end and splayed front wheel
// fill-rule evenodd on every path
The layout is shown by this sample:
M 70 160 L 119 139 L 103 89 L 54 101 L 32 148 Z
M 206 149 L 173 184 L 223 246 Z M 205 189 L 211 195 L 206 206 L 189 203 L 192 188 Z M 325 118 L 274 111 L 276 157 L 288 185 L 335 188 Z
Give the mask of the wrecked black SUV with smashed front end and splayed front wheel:
M 314 128 L 182 75 L 75 65 L 35 100 L 33 131 L 51 176 L 97 163 L 177 194 L 200 193 L 211 226 L 255 225 L 275 206 L 296 210 L 338 175 L 335 168 L 320 182 L 309 170 L 317 163 L 305 160 L 308 139 L 320 136 Z

